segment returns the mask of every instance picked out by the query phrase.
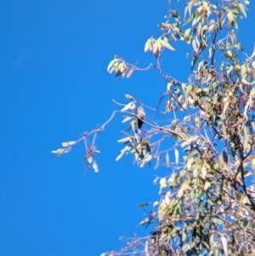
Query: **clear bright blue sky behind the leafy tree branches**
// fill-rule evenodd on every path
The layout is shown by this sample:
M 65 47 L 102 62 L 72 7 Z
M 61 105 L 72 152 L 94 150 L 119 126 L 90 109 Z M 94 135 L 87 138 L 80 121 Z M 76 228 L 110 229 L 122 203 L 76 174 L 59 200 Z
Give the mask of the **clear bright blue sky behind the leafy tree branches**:
M 152 181 L 167 170 L 138 168 L 132 156 L 115 161 L 121 117 L 99 134 L 99 174 L 82 175 L 82 144 L 58 158 L 51 151 L 105 122 L 117 109 L 112 99 L 132 94 L 156 105 L 166 88 L 156 71 L 120 80 L 106 67 L 113 54 L 142 67 L 153 61 L 144 43 L 160 35 L 167 8 L 156 0 L 0 3 L 2 256 L 99 255 L 122 247 L 120 236 L 149 231 L 138 225 L 144 210 L 136 205 L 158 199 Z M 248 53 L 254 4 L 249 9 L 239 33 Z M 189 63 L 174 47 L 162 61 L 182 80 Z

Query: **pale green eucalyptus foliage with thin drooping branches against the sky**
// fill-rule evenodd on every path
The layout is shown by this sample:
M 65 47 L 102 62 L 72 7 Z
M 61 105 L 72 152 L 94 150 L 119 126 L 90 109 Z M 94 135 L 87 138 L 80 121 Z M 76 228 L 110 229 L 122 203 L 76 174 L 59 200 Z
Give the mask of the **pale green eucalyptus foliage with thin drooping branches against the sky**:
M 129 103 L 122 110 L 114 111 L 99 129 L 82 137 L 88 166 L 98 170 L 94 166 L 96 135 L 121 112 L 127 115 L 123 122 L 131 122 L 118 141 L 124 147 L 116 160 L 131 153 L 140 167 L 155 162 L 155 168 L 161 164 L 171 168 L 172 174 L 156 178 L 161 200 L 141 222 L 156 224 L 150 236 L 134 237 L 121 252 L 105 256 L 255 255 L 255 48 L 246 54 L 236 35 L 248 3 L 190 0 L 184 15 L 171 9 L 159 25 L 161 36 L 146 41 L 144 51 L 152 52 L 153 64 L 141 69 L 119 56 L 111 60 L 108 71 L 116 77 L 128 78 L 134 71 L 155 67 L 167 83 L 161 97 L 163 114 L 173 115 L 173 120 L 167 125 L 141 120 L 135 110 L 137 106 L 146 109 L 146 105 L 126 94 Z M 187 43 L 193 52 L 186 82 L 161 70 L 164 50 L 174 50 L 172 44 L 178 41 Z M 150 129 L 138 129 L 138 121 Z M 162 149 L 168 139 L 175 144 Z M 65 143 L 64 149 L 54 153 L 69 151 L 80 140 Z M 169 151 L 174 152 L 174 162 Z M 183 161 L 180 151 L 184 151 Z

